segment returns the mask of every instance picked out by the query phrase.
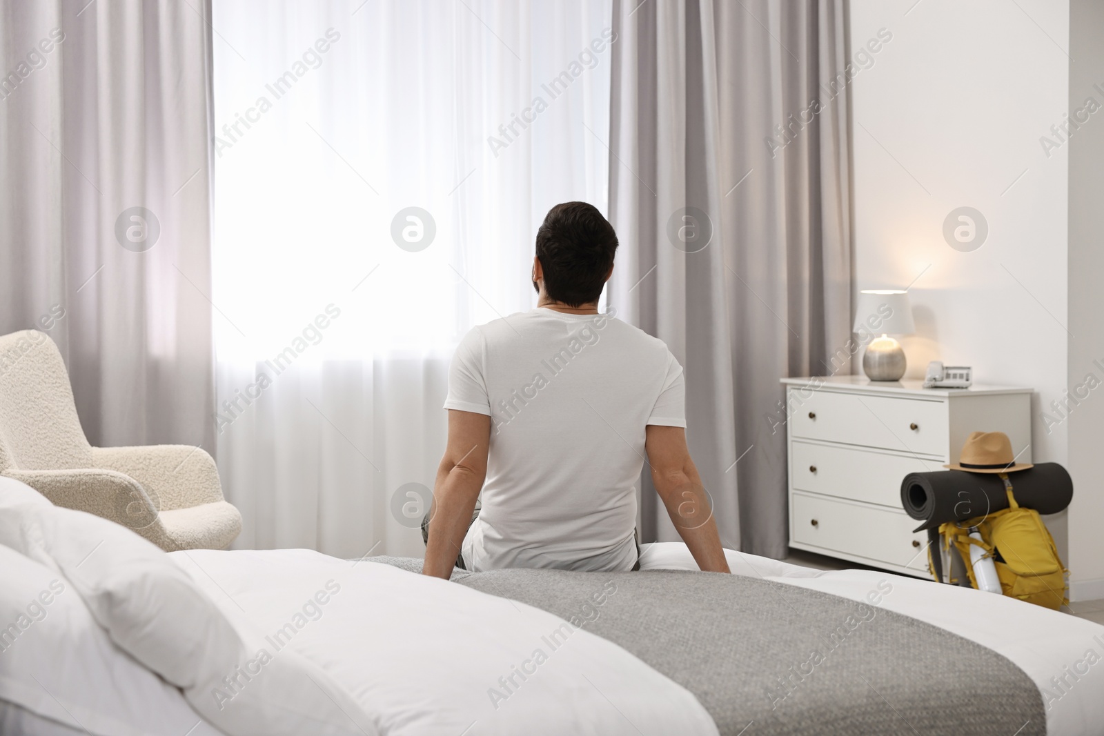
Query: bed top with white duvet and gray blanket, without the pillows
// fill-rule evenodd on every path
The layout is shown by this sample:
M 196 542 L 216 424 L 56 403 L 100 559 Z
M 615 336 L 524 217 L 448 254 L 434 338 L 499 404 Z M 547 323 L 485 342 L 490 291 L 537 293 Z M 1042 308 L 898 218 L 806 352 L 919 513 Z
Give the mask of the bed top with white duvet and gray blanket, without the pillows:
M 1104 733 L 1104 627 L 889 573 L 726 554 L 733 576 L 657 544 L 640 573 L 458 570 L 455 583 L 413 574 L 417 559 L 170 557 L 389 736 Z M 10 707 L 0 723 L 66 733 Z M 176 725 L 164 733 L 198 724 Z

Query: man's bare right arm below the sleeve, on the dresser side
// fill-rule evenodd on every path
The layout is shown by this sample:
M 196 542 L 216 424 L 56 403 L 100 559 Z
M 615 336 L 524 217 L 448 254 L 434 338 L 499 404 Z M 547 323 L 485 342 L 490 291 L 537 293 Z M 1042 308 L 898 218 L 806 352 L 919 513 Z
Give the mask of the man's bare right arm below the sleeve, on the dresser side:
M 713 506 L 690 459 L 686 429 L 648 425 L 645 431 L 651 481 L 698 567 L 707 573 L 730 572 Z

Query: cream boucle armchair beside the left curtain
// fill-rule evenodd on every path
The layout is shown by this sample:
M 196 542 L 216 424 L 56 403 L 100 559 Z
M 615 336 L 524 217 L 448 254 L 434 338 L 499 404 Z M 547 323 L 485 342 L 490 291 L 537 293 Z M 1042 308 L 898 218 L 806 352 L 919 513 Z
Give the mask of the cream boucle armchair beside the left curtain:
M 0 337 L 0 474 L 168 552 L 223 550 L 242 531 L 202 449 L 88 445 L 61 353 L 35 330 Z

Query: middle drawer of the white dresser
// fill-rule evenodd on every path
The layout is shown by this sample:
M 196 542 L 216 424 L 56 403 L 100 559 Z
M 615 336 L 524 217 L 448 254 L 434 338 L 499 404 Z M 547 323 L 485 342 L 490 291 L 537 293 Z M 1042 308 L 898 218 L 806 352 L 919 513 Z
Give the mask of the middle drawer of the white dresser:
M 943 470 L 938 460 L 842 445 L 789 446 L 790 486 L 797 490 L 901 509 L 901 481 L 911 472 Z

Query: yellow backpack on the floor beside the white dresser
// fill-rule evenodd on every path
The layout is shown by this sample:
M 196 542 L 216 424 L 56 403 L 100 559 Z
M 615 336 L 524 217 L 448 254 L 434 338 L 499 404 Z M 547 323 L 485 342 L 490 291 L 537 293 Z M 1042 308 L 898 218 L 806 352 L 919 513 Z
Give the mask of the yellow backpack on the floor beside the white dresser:
M 1042 523 L 1039 512 L 1021 509 L 1012 495 L 1012 483 L 1000 473 L 1008 493 L 1008 508 L 965 522 L 949 522 L 940 526 L 944 550 L 954 544 L 963 557 L 970 585 L 978 587 L 970 565 L 970 545 L 980 546 L 986 557 L 997 567 L 997 577 L 1006 596 L 1058 610 L 1066 599 L 1065 569 L 1058 556 L 1058 547 L 1050 531 Z M 981 542 L 969 536 L 976 526 Z M 951 580 L 955 583 L 955 580 Z

